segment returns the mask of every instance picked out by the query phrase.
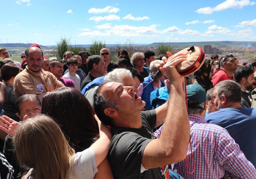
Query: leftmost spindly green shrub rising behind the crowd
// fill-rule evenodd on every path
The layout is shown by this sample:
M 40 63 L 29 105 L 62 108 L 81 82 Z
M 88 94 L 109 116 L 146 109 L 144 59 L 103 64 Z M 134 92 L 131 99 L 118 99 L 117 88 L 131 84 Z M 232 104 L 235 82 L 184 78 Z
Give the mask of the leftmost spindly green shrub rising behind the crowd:
M 58 59 L 63 59 L 63 55 L 70 49 L 70 37 L 60 37 L 59 41 L 57 41 L 57 52 L 56 56 Z

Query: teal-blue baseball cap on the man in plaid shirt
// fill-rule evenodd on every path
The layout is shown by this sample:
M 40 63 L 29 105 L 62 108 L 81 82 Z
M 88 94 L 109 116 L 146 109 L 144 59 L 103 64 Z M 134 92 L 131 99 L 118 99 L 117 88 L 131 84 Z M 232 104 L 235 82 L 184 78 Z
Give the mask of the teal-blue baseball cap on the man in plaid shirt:
M 201 85 L 187 85 L 187 100 L 198 100 L 198 105 L 206 101 L 206 92 Z

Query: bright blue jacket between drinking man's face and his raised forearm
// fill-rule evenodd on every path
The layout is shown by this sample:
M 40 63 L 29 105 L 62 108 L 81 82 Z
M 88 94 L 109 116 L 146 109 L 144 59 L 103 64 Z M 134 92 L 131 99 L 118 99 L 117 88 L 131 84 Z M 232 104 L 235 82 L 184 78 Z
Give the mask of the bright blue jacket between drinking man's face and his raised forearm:
M 161 106 L 169 98 L 170 90 L 167 87 L 161 87 L 151 92 L 150 94 L 150 104 L 152 109 L 156 109 Z

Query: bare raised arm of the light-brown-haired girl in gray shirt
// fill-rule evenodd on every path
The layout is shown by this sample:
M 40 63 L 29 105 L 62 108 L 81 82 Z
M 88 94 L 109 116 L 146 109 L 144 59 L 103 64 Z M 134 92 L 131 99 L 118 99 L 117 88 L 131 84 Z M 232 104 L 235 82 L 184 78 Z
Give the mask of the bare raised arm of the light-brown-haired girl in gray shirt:
M 98 122 L 100 138 L 93 145 L 91 145 L 91 148 L 95 153 L 96 166 L 98 166 L 108 155 L 111 133 L 108 127 L 102 124 L 96 115 L 95 118 Z

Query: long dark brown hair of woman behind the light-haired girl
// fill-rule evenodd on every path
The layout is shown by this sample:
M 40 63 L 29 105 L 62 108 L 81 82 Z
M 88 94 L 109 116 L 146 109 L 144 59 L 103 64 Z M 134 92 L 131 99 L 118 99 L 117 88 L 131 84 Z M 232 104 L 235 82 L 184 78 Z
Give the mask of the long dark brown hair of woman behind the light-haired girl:
M 47 114 L 60 125 L 75 151 L 83 151 L 95 142 L 98 124 L 89 101 L 74 88 L 63 87 L 46 94 L 42 114 Z

